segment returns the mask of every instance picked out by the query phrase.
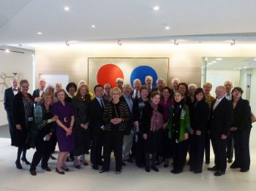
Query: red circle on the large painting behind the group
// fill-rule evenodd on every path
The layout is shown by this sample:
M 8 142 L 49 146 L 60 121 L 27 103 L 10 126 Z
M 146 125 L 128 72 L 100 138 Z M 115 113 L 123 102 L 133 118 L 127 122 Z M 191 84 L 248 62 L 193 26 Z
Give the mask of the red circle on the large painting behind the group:
M 97 82 L 99 85 L 109 83 L 112 87 L 116 87 L 116 78 L 124 79 L 124 74 L 121 69 L 113 63 L 108 63 L 102 66 L 97 74 Z

